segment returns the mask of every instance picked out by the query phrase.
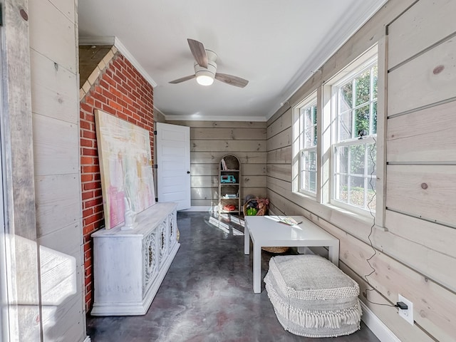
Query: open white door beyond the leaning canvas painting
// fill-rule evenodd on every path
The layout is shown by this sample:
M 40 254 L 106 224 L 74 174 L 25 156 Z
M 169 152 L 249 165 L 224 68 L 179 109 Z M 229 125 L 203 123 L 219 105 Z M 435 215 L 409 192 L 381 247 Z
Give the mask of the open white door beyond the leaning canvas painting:
M 190 208 L 190 128 L 157 123 L 158 202 Z

